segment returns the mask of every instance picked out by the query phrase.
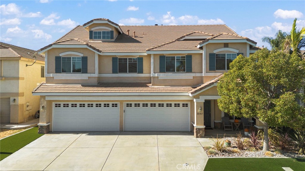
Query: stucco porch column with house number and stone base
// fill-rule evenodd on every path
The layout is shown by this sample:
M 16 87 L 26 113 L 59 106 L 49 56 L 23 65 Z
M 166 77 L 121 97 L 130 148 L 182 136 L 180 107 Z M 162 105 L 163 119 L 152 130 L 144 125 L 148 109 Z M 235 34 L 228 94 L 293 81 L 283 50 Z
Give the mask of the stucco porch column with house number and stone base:
M 204 120 L 203 120 L 203 102 L 194 103 L 194 115 L 195 115 L 195 125 L 194 125 L 194 136 L 196 138 L 204 137 Z

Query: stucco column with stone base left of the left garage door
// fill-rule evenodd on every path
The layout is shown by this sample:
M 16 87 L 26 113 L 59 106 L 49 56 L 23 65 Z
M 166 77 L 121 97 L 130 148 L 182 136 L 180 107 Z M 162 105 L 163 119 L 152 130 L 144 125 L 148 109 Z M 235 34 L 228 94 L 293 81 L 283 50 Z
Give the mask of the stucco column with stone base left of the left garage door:
M 48 106 L 47 106 L 47 101 L 45 100 L 45 96 L 40 96 L 38 134 L 46 134 L 50 130 L 50 122 L 48 122 L 49 116 L 47 114 L 47 109 Z

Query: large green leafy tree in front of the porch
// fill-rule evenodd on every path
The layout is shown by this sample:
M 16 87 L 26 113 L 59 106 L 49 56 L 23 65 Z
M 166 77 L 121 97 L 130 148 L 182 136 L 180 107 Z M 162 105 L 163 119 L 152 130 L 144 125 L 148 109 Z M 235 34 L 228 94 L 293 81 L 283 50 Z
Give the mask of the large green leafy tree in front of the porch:
M 264 124 L 263 151 L 269 151 L 268 127 L 305 128 L 305 61 L 296 54 L 264 48 L 230 64 L 217 85 L 219 108 Z

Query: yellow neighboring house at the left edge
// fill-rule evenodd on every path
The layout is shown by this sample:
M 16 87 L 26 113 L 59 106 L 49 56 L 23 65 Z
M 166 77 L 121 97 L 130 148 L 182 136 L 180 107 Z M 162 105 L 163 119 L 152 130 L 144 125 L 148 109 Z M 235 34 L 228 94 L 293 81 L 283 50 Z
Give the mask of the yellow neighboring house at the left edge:
M 35 52 L 0 42 L 1 123 L 33 119 L 39 110 L 39 96 L 33 96 L 32 90 L 45 81 L 45 57 L 36 54 L 37 61 L 34 63 Z

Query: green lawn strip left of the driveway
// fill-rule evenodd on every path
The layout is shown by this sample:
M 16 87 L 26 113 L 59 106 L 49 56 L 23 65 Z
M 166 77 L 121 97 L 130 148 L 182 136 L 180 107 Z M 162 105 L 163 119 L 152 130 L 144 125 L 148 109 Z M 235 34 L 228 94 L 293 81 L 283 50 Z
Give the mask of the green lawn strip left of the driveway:
M 10 137 L 0 140 L 0 160 L 13 154 L 20 148 L 36 140 L 44 134 L 38 134 L 38 127 L 33 127 L 27 131 L 20 132 Z

